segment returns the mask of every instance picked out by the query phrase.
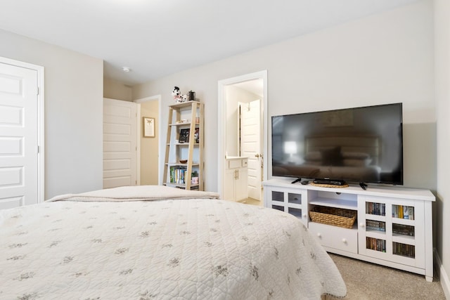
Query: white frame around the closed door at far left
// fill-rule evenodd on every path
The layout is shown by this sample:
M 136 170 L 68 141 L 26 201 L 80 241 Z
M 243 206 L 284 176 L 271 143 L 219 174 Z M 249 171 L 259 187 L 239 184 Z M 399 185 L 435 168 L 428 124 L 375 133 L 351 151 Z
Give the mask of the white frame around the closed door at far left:
M 0 56 L 0 63 L 24 67 L 37 72 L 37 202 L 45 199 L 45 143 L 44 143 L 44 67 Z

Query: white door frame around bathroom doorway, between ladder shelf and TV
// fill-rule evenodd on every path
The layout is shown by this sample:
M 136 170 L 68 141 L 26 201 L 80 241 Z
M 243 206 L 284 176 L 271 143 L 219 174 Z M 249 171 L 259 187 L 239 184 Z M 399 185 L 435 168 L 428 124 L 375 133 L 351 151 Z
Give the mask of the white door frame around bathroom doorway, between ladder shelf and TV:
M 263 113 L 262 113 L 262 136 L 264 138 L 263 147 L 262 147 L 262 155 L 263 159 L 267 157 L 267 70 L 254 72 L 250 74 L 243 74 L 238 77 L 232 77 L 229 79 L 219 80 L 217 82 L 218 89 L 218 107 L 217 107 L 217 119 L 219 120 L 219 124 L 217 124 L 218 132 L 217 135 L 217 188 L 219 190 L 219 195 L 222 197 L 224 195 L 224 171 L 225 171 L 225 152 L 226 152 L 226 95 L 225 95 L 225 86 L 229 86 L 231 84 L 238 84 L 243 81 L 250 81 L 255 79 L 263 79 L 264 81 L 264 97 L 262 99 L 263 105 Z M 262 171 L 262 180 L 266 180 L 267 178 L 267 163 L 265 160 L 264 167 Z M 262 200 L 261 200 L 262 201 Z

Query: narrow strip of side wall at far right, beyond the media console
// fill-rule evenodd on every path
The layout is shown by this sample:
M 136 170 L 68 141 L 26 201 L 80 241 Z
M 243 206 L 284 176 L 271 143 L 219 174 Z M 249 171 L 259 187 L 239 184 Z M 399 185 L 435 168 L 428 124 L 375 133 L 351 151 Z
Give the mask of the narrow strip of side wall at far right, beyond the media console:
M 450 2 L 435 0 L 435 83 L 437 102 L 437 203 L 435 244 L 442 260 L 441 282 L 450 299 Z M 447 202 L 447 203 L 445 203 Z M 446 255 L 444 255 L 446 254 Z

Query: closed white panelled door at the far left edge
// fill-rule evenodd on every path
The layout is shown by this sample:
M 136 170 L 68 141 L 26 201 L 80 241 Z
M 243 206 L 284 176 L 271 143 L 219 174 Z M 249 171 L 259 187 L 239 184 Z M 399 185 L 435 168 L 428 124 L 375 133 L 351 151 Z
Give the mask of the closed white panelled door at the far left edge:
M 37 79 L 0 63 L 0 209 L 39 202 Z

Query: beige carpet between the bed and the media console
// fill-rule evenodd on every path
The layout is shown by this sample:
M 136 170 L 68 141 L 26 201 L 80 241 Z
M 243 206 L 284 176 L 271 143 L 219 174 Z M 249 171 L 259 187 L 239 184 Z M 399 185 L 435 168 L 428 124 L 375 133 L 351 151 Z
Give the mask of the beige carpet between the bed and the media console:
M 347 285 L 347 296 L 344 299 L 445 300 L 441 283 L 437 278 L 433 282 L 428 282 L 423 275 L 336 254 L 330 254 L 330 257 L 338 266 Z M 338 298 L 326 296 L 325 299 Z

